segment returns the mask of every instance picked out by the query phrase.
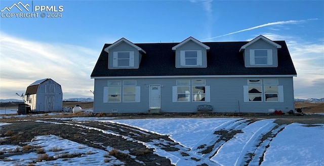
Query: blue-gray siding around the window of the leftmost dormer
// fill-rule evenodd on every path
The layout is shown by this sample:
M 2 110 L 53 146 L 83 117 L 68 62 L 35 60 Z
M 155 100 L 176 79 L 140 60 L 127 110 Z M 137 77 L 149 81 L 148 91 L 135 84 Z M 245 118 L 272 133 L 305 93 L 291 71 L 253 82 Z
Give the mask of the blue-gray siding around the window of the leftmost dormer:
M 119 51 L 134 51 L 134 67 L 113 67 L 113 52 L 119 52 Z M 142 56 L 139 54 L 139 51 L 136 48 L 125 43 L 125 41 L 122 41 L 117 46 L 109 50 L 108 68 L 109 69 L 138 68 L 141 57 Z

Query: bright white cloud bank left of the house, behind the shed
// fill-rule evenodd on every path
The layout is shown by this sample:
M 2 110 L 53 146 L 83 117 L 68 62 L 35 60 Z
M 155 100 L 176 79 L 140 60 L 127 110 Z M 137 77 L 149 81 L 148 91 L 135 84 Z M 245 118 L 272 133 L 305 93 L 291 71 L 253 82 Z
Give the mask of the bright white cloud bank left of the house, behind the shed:
M 41 43 L 1 33 L 1 98 L 17 97 L 38 79 L 52 78 L 63 98 L 93 97 L 90 74 L 99 51 L 60 43 Z

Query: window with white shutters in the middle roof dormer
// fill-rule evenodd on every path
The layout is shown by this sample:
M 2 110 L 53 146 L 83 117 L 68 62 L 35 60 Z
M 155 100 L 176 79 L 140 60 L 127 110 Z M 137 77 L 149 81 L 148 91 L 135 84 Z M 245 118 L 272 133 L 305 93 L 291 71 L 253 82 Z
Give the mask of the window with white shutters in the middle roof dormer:
M 180 51 L 181 66 L 201 66 L 201 50 Z

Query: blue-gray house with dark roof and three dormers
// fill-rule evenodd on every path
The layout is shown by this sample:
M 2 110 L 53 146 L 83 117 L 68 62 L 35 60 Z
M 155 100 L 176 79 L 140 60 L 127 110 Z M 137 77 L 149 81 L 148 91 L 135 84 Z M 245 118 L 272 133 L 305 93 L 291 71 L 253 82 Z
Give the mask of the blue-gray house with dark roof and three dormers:
M 94 112 L 294 110 L 297 76 L 285 41 L 105 44 L 93 69 Z

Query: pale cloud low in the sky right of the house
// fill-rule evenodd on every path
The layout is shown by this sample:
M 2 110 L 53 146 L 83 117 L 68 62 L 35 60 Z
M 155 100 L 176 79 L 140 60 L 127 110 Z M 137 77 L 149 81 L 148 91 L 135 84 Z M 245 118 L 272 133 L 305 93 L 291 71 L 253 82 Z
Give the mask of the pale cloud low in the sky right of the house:
M 305 41 L 299 36 L 262 34 L 271 40 L 285 40 L 297 71 L 295 98 L 324 97 L 324 40 Z

